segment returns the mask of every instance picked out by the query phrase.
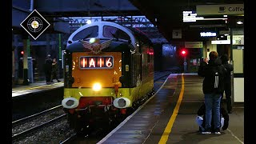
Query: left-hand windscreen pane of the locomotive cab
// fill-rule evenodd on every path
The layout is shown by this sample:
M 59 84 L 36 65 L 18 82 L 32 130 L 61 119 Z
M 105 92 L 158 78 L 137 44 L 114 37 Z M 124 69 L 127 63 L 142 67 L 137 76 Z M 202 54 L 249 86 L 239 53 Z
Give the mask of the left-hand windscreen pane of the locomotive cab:
M 78 34 L 75 34 L 72 40 L 78 41 L 79 39 L 96 37 L 98 37 L 98 26 L 90 26 L 84 30 L 79 31 Z

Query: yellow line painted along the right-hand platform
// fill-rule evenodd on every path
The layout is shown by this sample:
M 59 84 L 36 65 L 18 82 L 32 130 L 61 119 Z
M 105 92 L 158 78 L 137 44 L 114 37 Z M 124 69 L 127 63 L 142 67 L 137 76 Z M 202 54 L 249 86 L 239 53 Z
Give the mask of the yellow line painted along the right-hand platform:
M 176 106 L 174 108 L 174 112 L 171 115 L 170 120 L 169 120 L 169 122 L 166 126 L 166 129 L 163 132 L 162 137 L 161 137 L 160 141 L 158 142 L 158 144 L 163 144 L 163 143 L 167 142 L 169 134 L 171 132 L 171 128 L 173 127 L 174 121 L 175 121 L 175 119 L 178 115 L 178 110 L 179 110 L 179 107 L 181 106 L 181 103 L 182 103 L 183 94 L 184 94 L 184 76 L 183 76 L 183 73 L 182 73 L 182 90 L 181 90 L 181 93 L 178 96 L 178 102 L 176 103 Z

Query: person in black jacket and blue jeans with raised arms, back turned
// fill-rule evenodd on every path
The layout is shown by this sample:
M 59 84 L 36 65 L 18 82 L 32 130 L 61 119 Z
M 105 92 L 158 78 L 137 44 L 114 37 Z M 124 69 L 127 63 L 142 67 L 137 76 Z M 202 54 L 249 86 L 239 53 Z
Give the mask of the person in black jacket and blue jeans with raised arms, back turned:
M 214 134 L 221 134 L 221 99 L 224 91 L 223 80 L 226 75 L 226 68 L 218 58 L 216 51 L 209 54 L 209 62 L 201 62 L 198 75 L 204 77 L 202 82 L 202 91 L 206 104 L 206 125 L 202 134 L 210 134 L 212 117 L 214 120 Z

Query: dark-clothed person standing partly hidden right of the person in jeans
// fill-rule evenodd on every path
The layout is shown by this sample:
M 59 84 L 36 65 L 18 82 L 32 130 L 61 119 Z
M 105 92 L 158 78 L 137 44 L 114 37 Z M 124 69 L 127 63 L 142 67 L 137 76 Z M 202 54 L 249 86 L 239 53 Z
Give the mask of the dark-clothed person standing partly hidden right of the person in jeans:
M 224 78 L 224 92 L 226 95 L 226 106 L 227 106 L 227 112 L 229 114 L 232 114 L 232 104 L 231 104 L 231 71 L 234 70 L 234 66 L 232 66 L 229 61 L 229 57 L 227 54 L 222 55 L 222 65 L 225 66 L 227 73 L 226 77 Z M 222 93 L 222 99 L 224 96 L 224 92 Z

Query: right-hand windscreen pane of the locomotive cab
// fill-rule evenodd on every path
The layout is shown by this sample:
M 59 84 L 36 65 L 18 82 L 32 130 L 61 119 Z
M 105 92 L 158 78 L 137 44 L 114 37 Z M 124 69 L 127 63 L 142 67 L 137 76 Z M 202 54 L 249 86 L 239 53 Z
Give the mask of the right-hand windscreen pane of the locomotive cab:
M 117 38 L 130 40 L 130 36 L 126 32 L 113 27 L 113 26 L 104 26 L 103 27 L 103 36 L 107 38 Z

